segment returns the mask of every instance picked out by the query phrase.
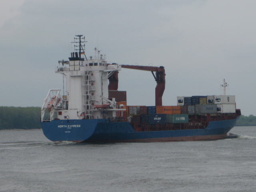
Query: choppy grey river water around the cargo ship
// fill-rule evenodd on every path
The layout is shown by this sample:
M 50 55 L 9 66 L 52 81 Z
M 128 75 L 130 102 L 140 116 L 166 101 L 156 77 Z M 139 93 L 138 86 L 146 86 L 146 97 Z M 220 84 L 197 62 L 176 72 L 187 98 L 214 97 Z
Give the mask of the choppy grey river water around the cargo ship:
M 0 192 L 255 192 L 256 126 L 224 140 L 53 143 L 0 131 Z

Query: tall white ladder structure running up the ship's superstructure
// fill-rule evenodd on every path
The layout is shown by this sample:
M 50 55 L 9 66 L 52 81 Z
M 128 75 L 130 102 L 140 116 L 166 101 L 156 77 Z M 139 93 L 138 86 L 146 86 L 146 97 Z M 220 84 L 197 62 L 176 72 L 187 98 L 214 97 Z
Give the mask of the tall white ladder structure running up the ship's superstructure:
M 94 88 L 94 78 L 89 70 L 84 71 L 83 75 L 83 107 L 84 107 L 84 117 L 87 119 L 92 119 L 92 114 L 90 109 L 95 102 L 95 88 Z

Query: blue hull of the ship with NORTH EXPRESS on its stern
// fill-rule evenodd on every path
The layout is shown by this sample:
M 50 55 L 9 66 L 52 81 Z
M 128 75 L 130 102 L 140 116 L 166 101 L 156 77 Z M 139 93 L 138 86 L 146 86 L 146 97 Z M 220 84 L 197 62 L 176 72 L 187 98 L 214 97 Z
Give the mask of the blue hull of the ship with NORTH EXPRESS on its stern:
M 105 119 L 52 120 L 41 122 L 41 126 L 46 138 L 54 142 L 194 141 L 224 138 L 238 118 L 209 122 L 206 129 L 148 132 L 135 132 L 129 122 L 108 122 Z

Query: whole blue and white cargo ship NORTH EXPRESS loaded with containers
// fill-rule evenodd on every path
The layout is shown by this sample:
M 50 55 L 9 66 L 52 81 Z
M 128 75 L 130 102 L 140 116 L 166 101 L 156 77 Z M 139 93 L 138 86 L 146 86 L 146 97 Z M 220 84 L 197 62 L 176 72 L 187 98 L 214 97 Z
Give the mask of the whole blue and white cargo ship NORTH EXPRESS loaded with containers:
M 178 96 L 165 106 L 163 66 L 108 63 L 94 49 L 86 57 L 85 38 L 74 38 L 74 52 L 60 60 L 55 72 L 63 89 L 50 89 L 41 109 L 41 126 L 53 142 L 169 142 L 217 140 L 228 136 L 241 115 L 235 96 Z M 126 91 L 118 90 L 122 68 L 144 70 L 156 80 L 154 106 L 129 106 Z M 224 88 L 226 83 L 224 82 Z

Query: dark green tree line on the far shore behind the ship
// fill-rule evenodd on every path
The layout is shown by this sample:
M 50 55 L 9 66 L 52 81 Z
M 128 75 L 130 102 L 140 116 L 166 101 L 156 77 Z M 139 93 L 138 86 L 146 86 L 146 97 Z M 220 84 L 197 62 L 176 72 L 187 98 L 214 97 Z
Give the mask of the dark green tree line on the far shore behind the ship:
M 40 107 L 6 107 L 0 106 L 0 130 L 40 129 Z M 236 126 L 256 126 L 256 116 L 244 116 Z

